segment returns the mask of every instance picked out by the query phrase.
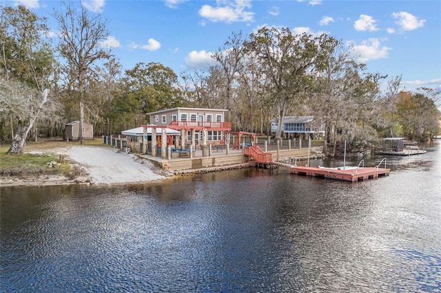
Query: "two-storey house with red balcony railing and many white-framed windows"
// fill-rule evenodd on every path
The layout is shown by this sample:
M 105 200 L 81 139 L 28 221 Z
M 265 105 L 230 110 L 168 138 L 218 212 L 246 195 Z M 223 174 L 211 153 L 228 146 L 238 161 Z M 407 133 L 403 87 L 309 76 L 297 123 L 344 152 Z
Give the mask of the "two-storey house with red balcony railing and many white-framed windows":
M 156 124 L 156 127 L 181 131 L 181 144 L 198 146 L 225 140 L 225 131 L 232 129 L 232 123 L 225 122 L 227 112 L 227 109 L 177 107 L 147 115 L 150 116 L 150 123 Z

